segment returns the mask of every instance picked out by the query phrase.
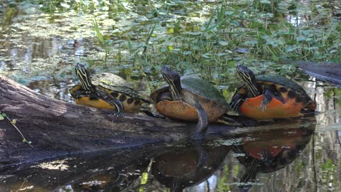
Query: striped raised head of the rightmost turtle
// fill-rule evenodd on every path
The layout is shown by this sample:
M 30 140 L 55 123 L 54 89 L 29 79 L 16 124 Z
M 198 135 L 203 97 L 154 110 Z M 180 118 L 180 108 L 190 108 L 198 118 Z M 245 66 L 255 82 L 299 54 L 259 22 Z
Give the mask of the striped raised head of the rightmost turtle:
M 237 74 L 247 84 L 247 87 L 249 87 L 249 90 L 252 95 L 254 95 L 254 97 L 261 95 L 259 91 L 259 85 L 256 82 L 256 76 L 254 75 L 254 72 L 252 72 L 252 70 L 244 65 L 238 65 Z

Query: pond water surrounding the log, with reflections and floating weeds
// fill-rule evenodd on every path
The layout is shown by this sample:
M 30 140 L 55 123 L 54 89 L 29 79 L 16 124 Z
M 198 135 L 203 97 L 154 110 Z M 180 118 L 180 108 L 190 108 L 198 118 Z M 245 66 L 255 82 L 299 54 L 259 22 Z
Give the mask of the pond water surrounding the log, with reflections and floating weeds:
M 150 58 L 143 58 L 140 52 L 144 46 L 153 49 L 160 43 L 174 49 L 167 36 L 173 36 L 177 21 L 186 23 L 183 30 L 188 33 L 184 36 L 197 37 L 195 31 L 210 20 L 217 3 L 195 1 L 188 5 L 177 1 L 165 7 L 144 3 L 119 4 L 113 15 L 108 11 L 112 6 L 100 6 L 91 13 L 63 9 L 47 13 L 40 11 L 46 4 L 4 1 L 0 11 L 0 74 L 43 95 L 73 102 L 68 90 L 77 83 L 74 65 L 87 62 L 93 73 L 120 75 L 148 96 L 162 83 L 156 63 L 164 55 L 153 50 L 156 53 Z M 186 9 L 183 4 L 188 5 Z M 107 64 L 103 63 L 104 48 L 94 43 L 98 41 L 92 30 L 94 16 L 102 33 L 110 34 L 112 49 Z M 297 18 L 291 20 L 298 22 Z M 144 43 L 158 21 L 154 30 L 157 38 L 153 35 Z M 127 42 L 134 47 L 128 48 Z M 144 60 L 152 64 L 145 65 Z M 181 62 L 179 65 L 186 65 L 188 60 Z M 259 68 L 267 67 L 261 64 Z M 179 69 L 186 74 L 200 73 Z M 200 73 L 204 78 L 206 70 Z M 207 79 L 224 90 L 229 100 L 232 94 L 226 92 L 234 90 L 238 80 L 221 80 L 224 75 L 214 72 L 219 70 L 212 68 L 213 78 Z M 302 85 L 317 103 L 319 114 L 315 117 L 278 121 L 266 129 L 194 145 L 119 149 L 7 167 L 0 169 L 0 191 L 341 191 L 341 90 L 289 70 L 293 72 L 287 77 Z

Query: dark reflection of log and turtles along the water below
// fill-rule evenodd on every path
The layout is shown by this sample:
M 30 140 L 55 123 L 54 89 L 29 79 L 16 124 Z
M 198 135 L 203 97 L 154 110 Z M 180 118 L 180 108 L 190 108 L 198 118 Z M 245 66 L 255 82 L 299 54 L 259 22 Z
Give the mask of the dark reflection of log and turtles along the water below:
M 195 144 L 118 149 L 6 167 L 0 191 L 259 190 L 267 185 L 260 174 L 274 174 L 300 158 L 315 125 L 315 117 L 299 118 Z

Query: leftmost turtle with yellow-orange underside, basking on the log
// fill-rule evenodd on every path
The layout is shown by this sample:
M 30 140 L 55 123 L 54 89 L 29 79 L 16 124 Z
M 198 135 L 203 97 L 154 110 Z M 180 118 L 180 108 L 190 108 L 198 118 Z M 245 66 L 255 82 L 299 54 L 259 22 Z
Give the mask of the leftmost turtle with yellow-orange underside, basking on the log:
M 70 89 L 78 105 L 114 110 L 117 117 L 125 112 L 147 112 L 142 106 L 149 103 L 123 78 L 112 73 L 99 73 L 90 78 L 90 71 L 80 63 L 75 66 L 80 83 Z

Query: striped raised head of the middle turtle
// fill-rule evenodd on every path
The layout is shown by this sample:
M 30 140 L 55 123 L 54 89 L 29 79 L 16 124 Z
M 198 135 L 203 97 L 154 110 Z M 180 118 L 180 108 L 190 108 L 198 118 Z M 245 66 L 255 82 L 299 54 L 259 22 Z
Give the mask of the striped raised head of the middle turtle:
M 173 100 L 181 100 L 180 92 L 183 90 L 183 88 L 181 88 L 180 75 L 167 65 L 163 66 L 161 69 L 161 74 L 163 79 L 166 80 L 169 85 Z

